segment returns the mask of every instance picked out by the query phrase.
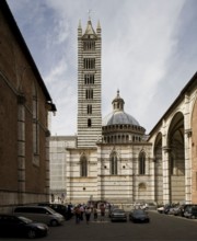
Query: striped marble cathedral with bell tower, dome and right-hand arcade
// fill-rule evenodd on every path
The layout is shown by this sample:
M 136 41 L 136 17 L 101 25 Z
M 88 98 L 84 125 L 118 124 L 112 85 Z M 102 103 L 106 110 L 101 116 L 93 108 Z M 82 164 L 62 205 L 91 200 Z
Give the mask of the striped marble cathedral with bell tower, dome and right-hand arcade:
M 102 118 L 102 28 L 78 26 L 78 134 L 50 137 L 50 192 L 67 203 L 197 203 L 197 73 L 149 135 L 119 90 Z

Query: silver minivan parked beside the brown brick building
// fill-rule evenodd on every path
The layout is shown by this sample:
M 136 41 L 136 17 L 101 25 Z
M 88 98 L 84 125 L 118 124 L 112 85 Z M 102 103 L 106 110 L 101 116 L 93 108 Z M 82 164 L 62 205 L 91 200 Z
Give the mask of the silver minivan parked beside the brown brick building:
M 48 226 L 62 225 L 65 218 L 62 215 L 53 210 L 50 207 L 43 206 L 19 206 L 13 209 L 16 216 L 24 216 L 34 221 L 40 221 Z

